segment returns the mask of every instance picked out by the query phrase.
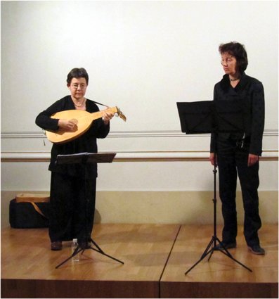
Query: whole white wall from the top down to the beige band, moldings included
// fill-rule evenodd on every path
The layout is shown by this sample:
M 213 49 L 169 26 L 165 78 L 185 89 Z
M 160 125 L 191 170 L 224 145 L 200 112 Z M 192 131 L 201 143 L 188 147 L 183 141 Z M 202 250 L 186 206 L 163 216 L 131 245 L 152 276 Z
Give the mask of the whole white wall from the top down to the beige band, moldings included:
M 100 166 L 99 190 L 212 189 L 209 163 L 171 162 L 209 150 L 208 134 L 181 133 L 176 101 L 212 99 L 223 75 L 218 46 L 233 40 L 246 46 L 247 74 L 264 84 L 264 156 L 277 158 L 277 1 L 1 1 L 2 158 L 24 161 L 2 164 L 2 190 L 48 190 L 47 163 L 25 159 L 50 156 L 34 119 L 68 94 L 74 67 L 89 72 L 88 98 L 127 117 L 99 141 L 126 158 Z M 169 162 L 143 162 L 162 155 Z M 261 167 L 262 190 L 278 190 L 277 167 Z

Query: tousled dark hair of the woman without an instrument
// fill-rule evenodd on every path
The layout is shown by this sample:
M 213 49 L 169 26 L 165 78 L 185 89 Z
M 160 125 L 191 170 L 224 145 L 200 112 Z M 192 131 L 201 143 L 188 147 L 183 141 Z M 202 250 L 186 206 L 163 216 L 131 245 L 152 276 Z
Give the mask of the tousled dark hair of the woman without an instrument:
M 229 42 L 219 46 L 219 53 L 229 53 L 235 57 L 238 65 L 238 70 L 244 72 L 247 69 L 248 57 L 245 46 L 238 42 Z

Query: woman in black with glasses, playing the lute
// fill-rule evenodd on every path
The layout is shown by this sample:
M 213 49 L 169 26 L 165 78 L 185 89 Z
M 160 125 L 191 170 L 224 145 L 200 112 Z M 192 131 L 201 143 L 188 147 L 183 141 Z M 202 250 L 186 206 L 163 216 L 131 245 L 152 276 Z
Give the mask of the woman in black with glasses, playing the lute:
M 59 127 L 74 131 L 74 120 L 53 119 L 51 115 L 63 110 L 86 110 L 89 113 L 97 112 L 96 103 L 85 98 L 89 75 L 84 68 L 73 68 L 67 75 L 69 96 L 65 96 L 53 103 L 46 110 L 39 113 L 36 124 L 42 129 L 56 131 Z M 90 129 L 73 141 L 65 144 L 53 144 L 51 149 L 51 199 L 49 237 L 51 250 L 61 250 L 62 241 L 77 238 L 79 246 L 86 248 L 91 239 L 93 228 L 97 164 L 89 163 L 56 165 L 57 155 L 74 153 L 97 153 L 97 138 L 105 138 L 110 132 L 110 119 L 114 116 L 104 110 L 103 117 L 94 120 Z M 84 179 L 86 173 L 86 179 Z M 86 184 L 86 185 L 85 185 Z M 86 201 L 84 189 L 86 186 Z M 87 211 L 87 213 L 86 213 Z

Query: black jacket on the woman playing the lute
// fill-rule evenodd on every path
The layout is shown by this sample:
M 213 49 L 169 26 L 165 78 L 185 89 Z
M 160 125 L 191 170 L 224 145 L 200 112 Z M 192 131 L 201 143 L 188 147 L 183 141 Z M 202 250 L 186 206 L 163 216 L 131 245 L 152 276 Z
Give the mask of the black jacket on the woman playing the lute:
M 51 115 L 63 110 L 74 110 L 74 103 L 71 96 L 65 96 L 53 103 L 46 110 L 39 113 L 36 118 L 36 125 L 42 129 L 56 131 L 58 129 L 58 120 L 51 118 Z M 98 106 L 90 100 L 86 100 L 86 111 L 94 113 L 99 111 Z M 94 120 L 90 129 L 73 141 L 65 144 L 53 144 L 51 148 L 51 163 L 48 170 L 53 172 L 61 172 L 71 176 L 82 175 L 82 167 L 80 165 L 56 165 L 57 155 L 70 155 L 74 153 L 97 153 L 97 138 L 105 138 L 110 132 L 110 125 L 105 125 L 102 118 Z M 95 163 L 86 165 L 87 176 L 97 177 L 97 165 Z

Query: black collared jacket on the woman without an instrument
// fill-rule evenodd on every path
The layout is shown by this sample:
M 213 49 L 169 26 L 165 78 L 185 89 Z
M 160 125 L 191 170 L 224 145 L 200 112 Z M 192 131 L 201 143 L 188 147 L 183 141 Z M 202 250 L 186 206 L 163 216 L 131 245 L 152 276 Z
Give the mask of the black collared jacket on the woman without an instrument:
M 238 85 L 233 88 L 228 75 L 224 75 L 214 87 L 214 101 L 238 100 L 244 109 L 244 132 L 237 134 L 218 133 L 222 139 L 241 139 L 243 134 L 249 141 L 249 153 L 261 155 L 264 134 L 264 87 L 259 80 L 242 73 Z M 214 138 L 210 144 L 214 152 Z M 217 151 L 218 152 L 218 151 Z

